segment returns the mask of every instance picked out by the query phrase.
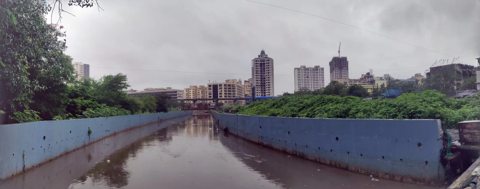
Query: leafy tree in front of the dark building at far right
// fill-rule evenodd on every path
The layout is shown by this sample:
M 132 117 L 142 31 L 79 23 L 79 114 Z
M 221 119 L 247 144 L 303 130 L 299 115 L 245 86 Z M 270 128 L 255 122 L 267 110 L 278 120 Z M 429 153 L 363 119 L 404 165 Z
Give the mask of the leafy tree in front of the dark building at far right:
M 460 76 L 456 73 L 455 65 L 446 65 L 437 68 L 435 73 L 424 79 L 425 89 L 438 90 L 441 93 L 452 96 L 455 94 L 456 81 Z

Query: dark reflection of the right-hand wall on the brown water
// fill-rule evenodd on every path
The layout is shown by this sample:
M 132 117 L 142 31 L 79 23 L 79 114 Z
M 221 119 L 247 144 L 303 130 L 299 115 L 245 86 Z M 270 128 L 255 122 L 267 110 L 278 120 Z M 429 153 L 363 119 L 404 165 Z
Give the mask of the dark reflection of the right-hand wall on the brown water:
M 223 132 L 221 132 L 223 133 Z M 245 141 L 234 135 L 223 133 L 219 137 L 222 145 L 253 171 L 261 173 L 264 179 L 276 182 L 286 189 L 435 189 L 393 180 L 372 181 L 367 175 L 329 167 L 310 160 L 283 153 Z

